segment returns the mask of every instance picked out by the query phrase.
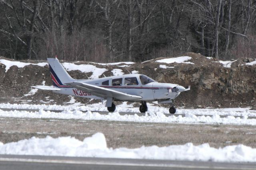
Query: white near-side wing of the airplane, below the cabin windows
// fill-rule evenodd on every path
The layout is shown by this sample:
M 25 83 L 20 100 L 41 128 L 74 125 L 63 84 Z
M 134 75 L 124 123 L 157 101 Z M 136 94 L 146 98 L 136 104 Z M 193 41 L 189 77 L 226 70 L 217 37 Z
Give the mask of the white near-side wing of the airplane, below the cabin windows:
M 70 83 L 65 83 L 66 85 L 70 85 L 71 87 L 74 87 L 76 89 L 82 90 L 82 91 L 88 91 L 92 95 L 98 96 L 98 97 L 113 97 L 118 100 L 136 100 L 136 99 L 141 99 L 141 96 L 135 96 L 135 95 L 129 95 L 126 93 L 122 93 L 119 91 L 115 91 L 112 89 L 107 89 L 104 87 L 99 87 L 96 85 L 90 85 L 87 83 L 82 83 L 82 82 L 70 82 Z

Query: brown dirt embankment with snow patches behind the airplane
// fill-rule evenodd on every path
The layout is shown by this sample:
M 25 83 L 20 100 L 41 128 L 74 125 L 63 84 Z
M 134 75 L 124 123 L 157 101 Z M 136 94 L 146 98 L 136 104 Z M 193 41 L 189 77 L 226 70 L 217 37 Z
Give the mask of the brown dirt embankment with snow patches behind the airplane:
M 129 71 L 136 70 L 148 75 L 158 82 L 191 85 L 191 90 L 181 93 L 176 99 L 177 107 L 256 107 L 256 65 L 246 65 L 253 59 L 238 59 L 224 67 L 217 59 L 210 59 L 196 53 L 186 53 L 189 62 L 194 63 L 159 63 L 158 59 L 144 63 L 135 63 L 127 67 Z M 0 57 L 0 59 L 6 59 Z M 162 59 L 162 58 L 160 58 Z M 38 61 L 22 61 L 38 63 Z M 46 62 L 46 61 L 39 61 Z M 112 76 L 113 69 L 122 69 L 118 65 L 98 65 L 89 62 L 75 64 L 91 64 L 99 68 L 106 68 L 106 76 Z M 124 64 L 120 64 L 124 65 Z M 119 66 L 120 66 L 119 65 Z M 160 68 L 165 65 L 167 68 Z M 174 68 L 173 68 L 174 67 Z M 10 67 L 6 72 L 6 65 L 0 63 L 0 102 L 1 103 L 49 103 L 62 104 L 70 101 L 66 95 L 57 95 L 48 91 L 37 91 L 35 95 L 24 96 L 31 90 L 32 85 L 52 85 L 48 65 L 41 67 L 28 65 L 22 68 Z M 87 79 L 92 73 L 69 71 L 76 79 Z M 104 77 L 102 75 L 102 77 Z M 76 98 L 77 101 L 89 102 L 87 99 Z M 93 102 L 93 101 L 91 101 Z

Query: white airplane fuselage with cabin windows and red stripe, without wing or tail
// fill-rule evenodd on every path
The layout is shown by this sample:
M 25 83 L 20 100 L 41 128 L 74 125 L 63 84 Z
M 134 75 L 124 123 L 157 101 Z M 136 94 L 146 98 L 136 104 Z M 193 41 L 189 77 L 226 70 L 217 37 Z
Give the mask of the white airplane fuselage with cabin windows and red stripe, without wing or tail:
M 147 82 L 142 82 L 144 79 L 149 79 Z M 130 80 L 135 81 L 131 83 Z M 141 96 L 141 99 L 134 101 L 161 101 L 166 99 L 175 99 L 180 93 L 171 92 L 177 84 L 158 83 L 149 77 L 141 74 L 126 74 L 111 77 L 103 77 L 99 79 L 79 80 L 79 82 L 112 89 L 130 95 Z M 58 87 L 60 88 L 60 87 Z M 55 93 L 72 95 L 76 97 L 86 97 L 91 99 L 102 99 L 100 97 L 90 94 L 90 91 L 82 91 L 72 87 L 61 88 L 61 91 L 54 91 Z

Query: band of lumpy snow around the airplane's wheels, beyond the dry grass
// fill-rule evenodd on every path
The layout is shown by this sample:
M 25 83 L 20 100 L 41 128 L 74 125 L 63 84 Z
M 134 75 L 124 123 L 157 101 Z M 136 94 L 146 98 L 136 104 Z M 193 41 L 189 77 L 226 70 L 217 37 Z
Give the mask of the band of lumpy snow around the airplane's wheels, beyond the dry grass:
M 70 103 L 74 103 L 71 98 Z M 79 106 L 80 105 L 80 106 Z M 35 119 L 77 119 L 77 120 L 103 120 L 103 121 L 126 121 L 126 122 L 143 122 L 143 123 L 196 123 L 196 124 L 224 124 L 224 125 L 256 125 L 256 111 L 250 108 L 229 108 L 229 109 L 179 109 L 174 115 L 166 117 L 168 108 L 153 106 L 148 103 L 148 112 L 145 116 L 120 115 L 119 112 L 138 113 L 139 109 L 133 105 L 127 105 L 123 102 L 116 106 L 116 112 L 108 115 L 100 115 L 97 111 L 107 111 L 104 103 L 94 103 L 91 105 L 82 105 L 74 103 L 73 105 L 28 105 L 28 104 L 0 104 L 0 108 L 12 109 L 41 109 L 37 112 L 29 111 L 3 111 L 0 110 L 0 117 L 17 117 L 17 118 L 35 118 Z M 44 110 L 64 110 L 61 113 Z M 87 111 L 83 113 L 82 111 Z M 96 111 L 92 113 L 91 111 Z M 184 114 L 185 117 L 177 114 Z M 196 116 L 197 115 L 197 116 Z M 220 117 L 226 115 L 227 117 Z M 235 118 L 234 116 L 241 116 Z

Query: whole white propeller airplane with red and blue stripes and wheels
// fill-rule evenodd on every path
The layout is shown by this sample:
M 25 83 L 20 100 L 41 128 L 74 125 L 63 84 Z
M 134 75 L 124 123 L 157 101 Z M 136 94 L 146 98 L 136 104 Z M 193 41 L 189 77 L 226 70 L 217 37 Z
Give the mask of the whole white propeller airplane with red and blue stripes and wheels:
M 158 101 L 158 104 L 170 103 L 169 112 L 176 109 L 173 101 L 180 92 L 190 90 L 177 84 L 158 83 L 142 74 L 126 74 L 98 79 L 73 79 L 61 65 L 57 57 L 47 58 L 53 86 L 36 85 L 37 89 L 54 93 L 106 100 L 108 111 L 114 112 L 113 101 L 140 101 L 140 112 L 148 111 L 146 101 Z

